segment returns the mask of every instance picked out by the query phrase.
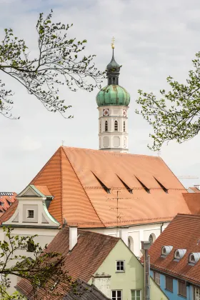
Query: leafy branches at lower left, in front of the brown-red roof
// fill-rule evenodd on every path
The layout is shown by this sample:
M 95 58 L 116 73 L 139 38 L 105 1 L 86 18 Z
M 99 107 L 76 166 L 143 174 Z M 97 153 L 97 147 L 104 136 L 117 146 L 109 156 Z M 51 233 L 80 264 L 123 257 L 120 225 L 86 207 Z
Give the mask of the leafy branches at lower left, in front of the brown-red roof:
M 14 235 L 11 227 L 4 227 L 3 230 L 6 239 L 0 241 L 0 299 L 23 299 L 17 291 L 8 294 L 11 275 L 29 280 L 32 286 L 31 299 L 42 300 L 47 297 L 58 300 L 69 289 L 76 291 L 77 282 L 63 269 L 61 254 L 49 252 L 46 247 L 41 249 L 34 242 L 36 236 Z

